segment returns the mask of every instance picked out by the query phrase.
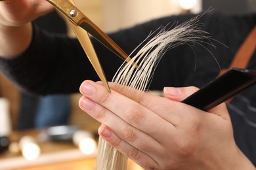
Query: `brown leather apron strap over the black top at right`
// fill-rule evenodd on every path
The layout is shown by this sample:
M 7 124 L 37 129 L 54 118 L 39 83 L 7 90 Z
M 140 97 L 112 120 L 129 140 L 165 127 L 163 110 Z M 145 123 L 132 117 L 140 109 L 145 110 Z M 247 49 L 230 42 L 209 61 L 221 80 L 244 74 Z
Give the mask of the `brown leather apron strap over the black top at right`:
M 228 67 L 228 69 L 232 67 L 246 68 L 247 64 L 251 59 L 251 56 L 253 56 L 253 52 L 255 51 L 255 48 L 256 48 L 256 26 L 253 27 L 249 35 L 247 35 L 242 46 L 238 48 L 238 51 L 236 52 L 236 55 L 234 56 L 234 59 L 230 63 L 230 67 Z M 221 70 L 219 75 L 222 75 L 228 69 Z

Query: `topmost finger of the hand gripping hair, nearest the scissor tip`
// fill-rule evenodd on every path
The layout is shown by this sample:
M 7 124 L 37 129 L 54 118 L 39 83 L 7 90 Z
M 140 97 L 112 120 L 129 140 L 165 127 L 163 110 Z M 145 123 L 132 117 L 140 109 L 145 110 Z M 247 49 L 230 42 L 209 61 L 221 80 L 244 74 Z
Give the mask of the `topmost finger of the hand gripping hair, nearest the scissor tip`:
M 98 103 L 95 107 L 95 109 L 99 108 L 98 112 L 100 112 L 100 109 L 105 108 L 109 110 L 108 112 L 113 112 L 127 122 L 127 124 L 131 124 L 131 126 L 143 131 L 154 139 L 161 139 L 160 131 L 169 129 L 169 132 L 171 132 L 175 130 L 175 127 L 170 122 L 163 120 L 158 114 L 114 90 L 108 93 L 106 88 L 98 83 L 86 80 L 81 84 L 80 91 L 85 97 Z M 97 119 L 97 116 L 93 115 L 96 110 L 85 109 L 85 112 Z

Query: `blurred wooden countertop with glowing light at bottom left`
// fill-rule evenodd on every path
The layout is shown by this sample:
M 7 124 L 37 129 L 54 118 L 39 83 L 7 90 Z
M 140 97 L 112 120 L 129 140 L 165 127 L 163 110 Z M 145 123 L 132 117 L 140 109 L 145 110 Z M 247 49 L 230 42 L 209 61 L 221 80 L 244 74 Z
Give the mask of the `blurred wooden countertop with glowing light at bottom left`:
M 24 135 L 36 139 L 41 148 L 41 154 L 36 160 L 26 160 L 20 152 L 5 152 L 0 154 L 0 169 L 16 170 L 94 170 L 96 167 L 96 151 L 93 154 L 83 154 L 73 143 L 41 141 L 44 130 L 26 130 L 12 133 L 11 141 L 18 142 Z M 136 163 L 129 160 L 127 170 L 141 170 Z

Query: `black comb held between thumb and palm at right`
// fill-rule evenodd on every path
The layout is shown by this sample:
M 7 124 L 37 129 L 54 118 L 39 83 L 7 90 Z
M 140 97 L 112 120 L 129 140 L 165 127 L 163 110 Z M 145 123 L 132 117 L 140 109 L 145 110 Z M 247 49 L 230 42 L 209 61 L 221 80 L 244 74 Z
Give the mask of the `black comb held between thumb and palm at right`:
M 209 110 L 256 83 L 256 71 L 232 68 L 182 101 Z

